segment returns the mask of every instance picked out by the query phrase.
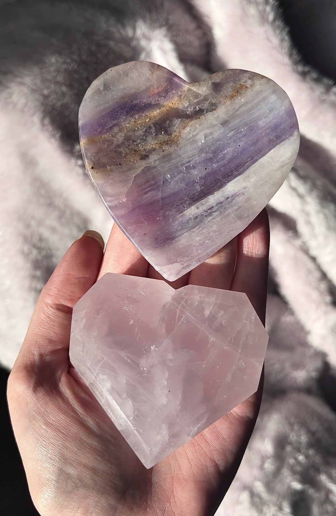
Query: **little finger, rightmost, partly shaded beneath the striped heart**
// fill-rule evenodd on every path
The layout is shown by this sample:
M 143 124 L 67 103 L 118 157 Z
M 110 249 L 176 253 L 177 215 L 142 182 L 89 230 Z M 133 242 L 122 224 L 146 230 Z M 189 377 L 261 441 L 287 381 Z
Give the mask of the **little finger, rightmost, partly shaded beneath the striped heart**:
M 245 292 L 265 324 L 268 282 L 269 224 L 266 209 L 238 235 L 231 289 Z

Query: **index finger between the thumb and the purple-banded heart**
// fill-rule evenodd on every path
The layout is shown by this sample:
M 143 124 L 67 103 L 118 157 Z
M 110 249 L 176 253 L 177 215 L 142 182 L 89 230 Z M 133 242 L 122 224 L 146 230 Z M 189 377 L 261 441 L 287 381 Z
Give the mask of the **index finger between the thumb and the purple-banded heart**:
M 98 279 L 106 272 L 144 277 L 148 272 L 146 258 L 134 247 L 117 224 L 113 224 Z

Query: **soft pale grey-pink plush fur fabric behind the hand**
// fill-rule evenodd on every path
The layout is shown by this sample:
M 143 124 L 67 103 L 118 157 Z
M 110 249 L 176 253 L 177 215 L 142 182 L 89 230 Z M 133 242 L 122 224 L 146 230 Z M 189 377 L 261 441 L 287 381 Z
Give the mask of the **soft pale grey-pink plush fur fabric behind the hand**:
M 275 0 L 0 0 L 0 19 L 0 361 L 7 368 L 62 254 L 86 229 L 105 240 L 111 229 L 78 146 L 78 106 L 95 77 L 130 60 L 157 62 L 187 80 L 242 68 L 289 94 L 302 139 L 269 206 L 265 394 L 217 514 L 334 514 L 333 83 L 295 51 Z

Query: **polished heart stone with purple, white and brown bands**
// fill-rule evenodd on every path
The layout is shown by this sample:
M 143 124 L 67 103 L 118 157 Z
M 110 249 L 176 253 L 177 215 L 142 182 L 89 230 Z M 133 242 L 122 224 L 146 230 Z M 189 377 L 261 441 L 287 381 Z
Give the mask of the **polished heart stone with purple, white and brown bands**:
M 189 84 L 146 61 L 94 80 L 79 136 L 110 215 L 168 280 L 258 215 L 299 146 L 293 106 L 269 78 L 225 70 Z

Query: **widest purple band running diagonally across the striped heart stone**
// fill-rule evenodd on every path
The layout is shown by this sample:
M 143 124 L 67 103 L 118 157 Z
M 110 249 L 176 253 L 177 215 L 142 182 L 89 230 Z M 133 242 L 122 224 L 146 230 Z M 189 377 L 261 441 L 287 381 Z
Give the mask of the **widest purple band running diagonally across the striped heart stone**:
M 151 219 L 157 219 L 157 215 L 160 214 L 163 223 L 165 223 L 166 217 L 178 215 L 188 207 L 222 188 L 238 175 L 243 174 L 277 144 L 288 138 L 290 127 L 289 124 L 285 123 L 285 116 L 271 120 L 264 128 L 264 137 L 267 139 L 266 144 L 265 141 L 261 142 L 255 125 L 246 128 L 243 133 L 240 128 L 237 128 L 230 139 L 223 143 L 231 150 L 231 153 L 226 153 L 222 156 L 221 142 L 218 142 L 218 147 L 215 148 L 213 154 L 196 156 L 194 162 L 182 163 L 180 168 L 173 172 L 171 172 L 169 163 L 167 163 L 166 171 L 164 166 L 161 168 L 161 172 L 164 171 L 161 183 L 158 184 L 160 182 L 158 179 L 157 184 L 152 185 L 153 187 L 161 188 L 161 198 L 144 200 L 141 204 L 137 204 L 137 192 L 139 189 L 144 189 L 144 185 L 148 182 L 148 177 L 155 171 L 154 166 L 145 167 L 141 175 L 138 176 L 138 181 L 135 178 L 132 186 L 127 191 L 126 198 L 130 199 L 131 204 L 135 206 L 125 215 L 127 217 L 126 220 L 130 219 L 130 222 L 132 220 L 135 222 L 146 214 L 148 217 L 147 221 L 149 222 Z M 296 130 L 296 125 L 293 123 L 292 135 Z M 239 134 L 241 137 L 239 137 Z M 242 148 L 242 150 L 239 149 L 239 153 L 237 153 L 238 147 Z M 195 166 L 200 171 L 203 188 L 193 192 L 194 178 L 191 176 L 191 179 L 188 180 L 188 177 Z M 183 167 L 184 169 L 182 170 Z M 167 175 L 169 175 L 169 179 L 167 179 Z M 183 185 L 184 188 L 172 190 L 172 181 L 178 182 L 180 175 L 184 175 L 186 178 Z

